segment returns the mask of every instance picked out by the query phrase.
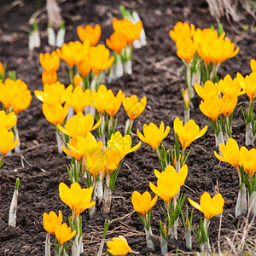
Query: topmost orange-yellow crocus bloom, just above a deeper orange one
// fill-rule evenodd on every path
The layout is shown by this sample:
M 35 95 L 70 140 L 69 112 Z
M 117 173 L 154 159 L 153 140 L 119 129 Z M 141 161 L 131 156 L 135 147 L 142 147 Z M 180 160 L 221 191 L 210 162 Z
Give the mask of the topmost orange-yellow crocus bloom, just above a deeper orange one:
M 122 34 L 130 45 L 140 38 L 141 31 L 143 29 L 143 22 L 141 20 L 134 24 L 131 20 L 127 20 L 125 18 L 122 20 L 113 18 L 112 25 L 113 30 Z

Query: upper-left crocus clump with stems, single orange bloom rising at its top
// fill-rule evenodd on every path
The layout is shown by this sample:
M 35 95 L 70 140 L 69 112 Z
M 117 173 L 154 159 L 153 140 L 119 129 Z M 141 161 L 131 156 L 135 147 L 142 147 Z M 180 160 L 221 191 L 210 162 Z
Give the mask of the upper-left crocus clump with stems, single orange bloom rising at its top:
M 79 26 L 77 32 L 82 43 L 75 41 L 63 44 L 56 52 L 67 63 L 70 83 L 74 87 L 80 85 L 83 90 L 89 88 L 92 91 L 103 78 L 104 70 L 112 66 L 114 57 L 110 56 L 109 49 L 103 44 L 97 44 L 102 34 L 100 25 Z M 78 77 L 79 83 L 76 81 Z

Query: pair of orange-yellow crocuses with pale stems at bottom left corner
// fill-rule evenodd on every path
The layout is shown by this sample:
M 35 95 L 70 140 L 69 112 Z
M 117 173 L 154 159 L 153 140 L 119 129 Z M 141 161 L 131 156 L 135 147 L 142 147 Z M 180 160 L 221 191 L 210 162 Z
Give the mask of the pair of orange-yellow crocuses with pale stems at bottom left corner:
M 50 255 L 50 235 L 55 236 L 55 253 L 58 256 L 67 255 L 67 241 L 76 235 L 76 230 L 62 223 L 62 212 L 59 215 L 55 212 L 44 212 L 43 214 L 44 230 L 47 231 L 45 240 L 45 255 Z

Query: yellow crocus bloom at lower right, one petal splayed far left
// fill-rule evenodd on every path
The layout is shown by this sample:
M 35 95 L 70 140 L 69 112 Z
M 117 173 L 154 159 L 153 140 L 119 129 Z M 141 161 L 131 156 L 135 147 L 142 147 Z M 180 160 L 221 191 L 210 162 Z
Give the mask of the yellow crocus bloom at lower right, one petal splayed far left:
M 205 192 L 201 195 L 200 205 L 190 198 L 189 203 L 199 211 L 203 212 L 207 220 L 223 212 L 224 207 L 224 199 L 220 193 L 211 198 L 211 195 Z

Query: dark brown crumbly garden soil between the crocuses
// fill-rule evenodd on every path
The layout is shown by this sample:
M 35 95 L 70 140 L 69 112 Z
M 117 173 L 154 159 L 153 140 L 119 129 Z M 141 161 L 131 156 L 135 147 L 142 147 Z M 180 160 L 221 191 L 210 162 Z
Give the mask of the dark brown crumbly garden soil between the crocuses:
M 125 5 L 129 10 L 136 9 L 143 20 L 148 44 L 142 49 L 135 49 L 133 54 L 133 74 L 107 84 L 108 89 L 116 93 L 123 90 L 126 96 L 132 94 L 139 98 L 148 98 L 147 108 L 136 119 L 131 137 L 133 145 L 139 142 L 136 131 L 143 130 L 143 124 L 154 122 L 160 125 L 170 125 L 171 131 L 164 140 L 167 147 L 173 144 L 173 120 L 183 119 L 183 101 L 181 89 L 184 87 L 183 62 L 176 55 L 175 44 L 169 37 L 169 30 L 177 21 L 193 23 L 195 27 L 216 26 L 216 20 L 209 13 L 206 1 L 165 1 L 165 0 L 137 0 L 137 1 L 61 1 L 61 10 L 66 21 L 67 31 L 65 42 L 79 40 L 76 27 L 87 24 L 100 24 L 104 44 L 106 38 L 113 32 L 113 17 L 121 18 L 119 5 Z M 38 17 L 42 46 L 31 54 L 28 52 L 28 24 L 30 17 L 44 8 L 45 1 L 1 1 L 0 3 L 0 61 L 7 64 L 8 70 L 15 70 L 17 78 L 22 79 L 32 90 L 43 90 L 39 63 L 39 53 L 51 51 L 47 44 L 47 16 L 43 12 Z M 241 10 L 242 11 L 242 10 Z M 240 23 L 221 20 L 226 35 L 240 47 L 236 57 L 225 61 L 220 68 L 220 78 L 230 74 L 232 78 L 237 72 L 242 75 L 250 73 L 249 61 L 255 57 L 255 32 L 252 32 L 255 22 L 246 15 Z M 241 29 L 248 26 L 249 32 Z M 64 63 L 61 64 L 64 67 Z M 60 70 L 60 81 L 67 84 L 65 74 Z M 33 93 L 32 93 L 33 94 Z M 241 98 L 240 103 L 242 104 Z M 195 96 L 194 105 L 190 113 L 191 119 L 203 128 L 208 125 L 207 118 L 198 108 L 199 98 Z M 61 182 L 70 185 L 67 175 L 69 161 L 65 154 L 59 154 L 55 141 L 55 130 L 44 118 L 41 102 L 33 95 L 32 104 L 20 113 L 18 128 L 20 131 L 21 151 L 9 155 L 0 171 L 0 255 L 44 255 L 44 240 L 46 232 L 43 228 L 43 213 L 61 210 L 64 221 L 70 209 L 59 197 L 58 185 Z M 119 113 L 118 130 L 123 132 L 126 119 L 125 110 Z M 245 125 L 241 111 L 237 107 L 234 114 L 233 137 L 239 145 L 245 144 Z M 220 231 L 220 248 L 228 250 L 225 236 L 232 236 L 236 230 L 237 220 L 234 218 L 236 198 L 239 189 L 235 168 L 219 162 L 213 152 L 215 142 L 212 128 L 208 125 L 207 133 L 195 143 L 187 161 L 189 174 L 182 192 L 195 201 L 199 201 L 201 194 L 208 191 L 215 195 L 219 191 L 224 197 L 224 212 Z M 83 216 L 84 255 L 96 255 L 102 238 L 105 218 L 111 220 L 107 241 L 113 236 L 125 236 L 131 248 L 139 255 L 160 255 L 160 247 L 153 252 L 146 247 L 143 225 L 133 212 L 131 193 L 134 190 L 143 193 L 149 189 L 148 183 L 156 182 L 154 168 L 160 170 L 154 150 L 142 143 L 142 146 L 125 157 L 119 172 L 115 188 L 111 212 L 107 215 L 96 208 L 94 218 L 89 219 L 88 212 Z M 17 227 L 8 227 L 9 205 L 15 189 L 15 179 L 20 177 L 18 200 Z M 84 183 L 81 183 L 84 186 Z M 155 236 L 159 236 L 159 220 L 164 220 L 160 209 L 161 199 L 152 210 L 152 228 Z M 192 207 L 186 201 L 185 205 Z M 185 209 L 185 207 L 183 208 Z M 194 211 L 194 224 L 198 224 L 202 213 Z M 219 216 L 214 217 L 210 224 L 210 241 L 218 252 Z M 255 225 L 254 225 L 255 227 Z M 248 237 L 255 241 L 255 229 Z M 184 244 L 183 224 L 178 225 L 178 241 L 170 242 L 170 251 L 188 252 Z M 199 250 L 193 237 L 193 248 Z M 52 248 L 53 250 L 53 248 Z M 106 246 L 104 247 L 106 252 Z M 255 253 L 256 254 L 256 253 Z M 255 255 L 254 254 L 254 255 Z

